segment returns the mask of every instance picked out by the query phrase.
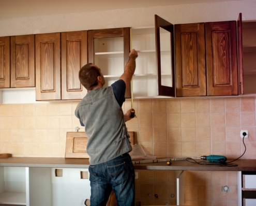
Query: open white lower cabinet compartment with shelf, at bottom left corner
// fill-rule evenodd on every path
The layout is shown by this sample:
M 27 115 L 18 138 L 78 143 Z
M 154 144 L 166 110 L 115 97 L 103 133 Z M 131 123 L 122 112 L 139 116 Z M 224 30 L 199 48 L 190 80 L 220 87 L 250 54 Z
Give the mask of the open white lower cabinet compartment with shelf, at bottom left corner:
M 0 204 L 27 205 L 28 167 L 0 167 Z

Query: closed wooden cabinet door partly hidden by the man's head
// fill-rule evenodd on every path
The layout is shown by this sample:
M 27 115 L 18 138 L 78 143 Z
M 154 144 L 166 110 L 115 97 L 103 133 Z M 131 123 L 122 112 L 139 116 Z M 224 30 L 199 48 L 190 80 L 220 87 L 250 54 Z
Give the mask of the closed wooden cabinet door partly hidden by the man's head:
M 82 99 L 87 90 L 79 81 L 87 63 L 87 31 L 62 32 L 62 99 Z

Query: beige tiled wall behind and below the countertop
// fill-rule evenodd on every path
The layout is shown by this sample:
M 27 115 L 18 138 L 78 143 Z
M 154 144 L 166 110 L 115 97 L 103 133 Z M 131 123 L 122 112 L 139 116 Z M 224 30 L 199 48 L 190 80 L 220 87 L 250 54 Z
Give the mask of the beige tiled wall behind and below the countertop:
M 0 105 L 0 153 L 16 157 L 65 157 L 66 133 L 80 126 L 74 116 L 79 101 Z M 134 143 L 157 158 L 224 155 L 244 152 L 240 130 L 249 130 L 244 159 L 256 158 L 254 97 L 133 100 L 137 118 L 127 122 Z M 126 100 L 123 110 L 131 107 Z M 180 171 L 137 170 L 136 200 L 141 205 L 176 203 Z M 221 192 L 231 186 L 230 193 Z M 158 195 L 158 199 L 154 195 Z M 174 196 L 173 196 L 174 195 Z M 186 171 L 186 205 L 237 205 L 237 173 Z

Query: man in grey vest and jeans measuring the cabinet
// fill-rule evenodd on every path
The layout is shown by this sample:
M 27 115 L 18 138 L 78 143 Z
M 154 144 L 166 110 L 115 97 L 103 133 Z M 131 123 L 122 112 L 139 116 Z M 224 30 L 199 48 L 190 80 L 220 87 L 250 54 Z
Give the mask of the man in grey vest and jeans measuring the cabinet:
M 103 88 L 104 76 L 92 63 L 84 65 L 79 80 L 88 90 L 75 111 L 88 136 L 91 206 L 106 206 L 111 191 L 117 205 L 134 205 L 134 169 L 129 156 L 132 147 L 125 122 L 131 109 L 123 113 L 125 89 L 135 71 L 136 50 L 132 49 L 124 74 L 110 87 Z

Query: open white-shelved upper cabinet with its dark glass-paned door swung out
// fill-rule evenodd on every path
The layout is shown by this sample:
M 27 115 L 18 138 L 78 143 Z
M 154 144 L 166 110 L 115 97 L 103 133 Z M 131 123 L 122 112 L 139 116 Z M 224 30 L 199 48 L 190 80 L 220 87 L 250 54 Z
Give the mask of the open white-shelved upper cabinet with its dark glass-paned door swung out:
M 134 98 L 175 96 L 173 25 L 155 15 L 155 27 L 131 29 L 138 51 L 133 76 Z

